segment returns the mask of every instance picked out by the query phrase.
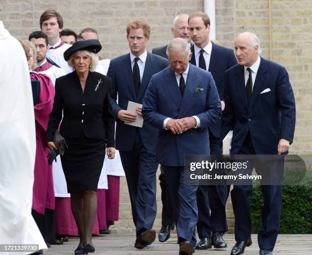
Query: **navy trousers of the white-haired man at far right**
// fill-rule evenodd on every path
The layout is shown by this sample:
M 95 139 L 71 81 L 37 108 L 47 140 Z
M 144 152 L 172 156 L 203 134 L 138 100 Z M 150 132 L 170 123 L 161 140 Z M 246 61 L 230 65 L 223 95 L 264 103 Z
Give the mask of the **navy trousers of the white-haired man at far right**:
M 250 133 L 239 151 L 240 155 L 254 155 L 255 151 L 252 145 Z M 251 173 L 255 168 L 257 174 L 263 174 L 263 170 L 271 173 L 283 171 L 282 160 L 274 164 L 248 164 L 247 173 Z M 231 191 L 233 212 L 235 215 L 235 240 L 237 242 L 245 241 L 251 236 L 251 213 L 249 195 L 252 192 L 252 180 L 250 185 L 234 185 Z M 260 180 L 261 183 L 261 180 Z M 262 211 L 262 226 L 258 232 L 258 245 L 261 249 L 273 250 L 279 231 L 279 220 L 282 202 L 281 185 L 261 185 L 264 198 Z

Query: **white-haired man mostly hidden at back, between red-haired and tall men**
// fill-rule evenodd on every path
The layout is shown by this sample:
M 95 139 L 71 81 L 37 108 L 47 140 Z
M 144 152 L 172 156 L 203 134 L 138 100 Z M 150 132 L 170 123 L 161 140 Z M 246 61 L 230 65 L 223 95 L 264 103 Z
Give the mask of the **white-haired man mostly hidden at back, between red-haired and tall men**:
M 189 15 L 185 13 L 181 13 L 177 15 L 173 19 L 173 24 L 171 28 L 171 33 L 174 38 L 183 38 L 187 40 L 189 43 L 191 41 L 190 37 L 190 30 L 188 24 Z M 152 54 L 156 54 L 158 56 L 164 57 L 168 59 L 167 56 L 167 46 L 153 48 Z M 191 46 L 191 43 L 190 43 Z M 170 231 L 174 228 L 174 219 L 172 217 L 172 206 L 171 206 L 171 199 L 168 190 L 168 186 L 166 184 L 166 179 L 164 175 L 163 167 L 161 166 L 161 174 L 159 175 L 160 187 L 162 189 L 162 227 L 158 233 L 158 240 L 160 242 L 166 242 L 170 238 Z

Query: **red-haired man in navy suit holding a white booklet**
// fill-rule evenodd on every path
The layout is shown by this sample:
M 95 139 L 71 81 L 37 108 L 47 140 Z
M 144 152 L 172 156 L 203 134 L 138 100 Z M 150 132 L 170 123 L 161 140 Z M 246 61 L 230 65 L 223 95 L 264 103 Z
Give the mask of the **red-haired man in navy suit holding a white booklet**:
M 107 76 L 112 79 L 111 105 L 115 115 L 116 148 L 126 175 L 137 239 L 142 249 L 155 240 L 152 225 L 157 212 L 155 145 L 158 130 L 148 123 L 135 127 L 136 115 L 126 111 L 128 102 L 142 104 L 151 76 L 168 66 L 168 61 L 147 52 L 150 27 L 143 20 L 127 25 L 130 53 L 111 60 Z M 118 103 L 117 103 L 118 94 Z M 142 116 L 142 107 L 136 109 Z

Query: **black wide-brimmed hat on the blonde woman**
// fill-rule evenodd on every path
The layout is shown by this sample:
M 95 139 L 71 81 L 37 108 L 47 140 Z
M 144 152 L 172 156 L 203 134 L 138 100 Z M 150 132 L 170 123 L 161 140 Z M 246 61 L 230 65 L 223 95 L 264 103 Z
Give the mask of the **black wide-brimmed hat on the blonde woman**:
M 65 50 L 64 59 L 69 60 L 70 56 L 77 50 L 88 50 L 88 52 L 98 53 L 102 48 L 100 42 L 96 39 L 76 41 L 71 47 Z

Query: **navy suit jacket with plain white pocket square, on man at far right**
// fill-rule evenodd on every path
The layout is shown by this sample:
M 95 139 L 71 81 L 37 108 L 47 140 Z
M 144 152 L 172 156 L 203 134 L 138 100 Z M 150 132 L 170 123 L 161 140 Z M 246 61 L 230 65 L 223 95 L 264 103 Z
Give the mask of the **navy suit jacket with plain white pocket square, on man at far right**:
M 266 89 L 270 91 L 261 93 Z M 224 100 L 220 138 L 233 130 L 231 154 L 238 154 L 248 131 L 256 154 L 277 154 L 277 145 L 282 138 L 292 143 L 295 97 L 288 73 L 281 65 L 261 58 L 249 107 L 244 66 L 233 66 L 225 73 Z

